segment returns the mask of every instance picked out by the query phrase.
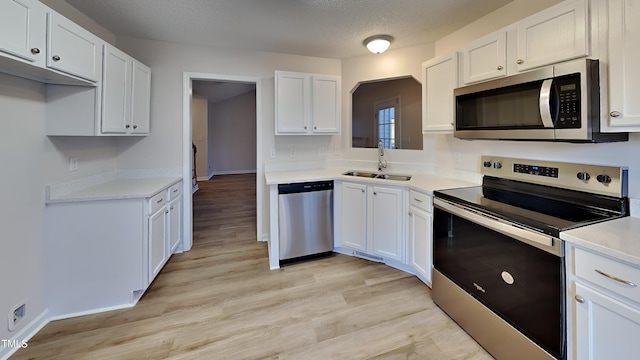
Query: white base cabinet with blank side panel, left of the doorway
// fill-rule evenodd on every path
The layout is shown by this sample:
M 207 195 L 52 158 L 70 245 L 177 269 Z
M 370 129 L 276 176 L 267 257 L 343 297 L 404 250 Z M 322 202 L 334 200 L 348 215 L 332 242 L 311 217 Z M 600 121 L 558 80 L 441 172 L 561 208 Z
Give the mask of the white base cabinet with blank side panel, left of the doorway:
M 128 307 L 140 299 L 179 246 L 181 184 L 151 198 L 47 204 L 44 266 L 52 317 Z

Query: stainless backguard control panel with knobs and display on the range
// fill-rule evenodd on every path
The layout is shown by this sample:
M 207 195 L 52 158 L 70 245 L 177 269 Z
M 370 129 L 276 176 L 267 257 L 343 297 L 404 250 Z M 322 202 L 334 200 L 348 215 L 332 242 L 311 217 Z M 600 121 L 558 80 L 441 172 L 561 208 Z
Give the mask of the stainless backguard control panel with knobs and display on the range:
M 482 156 L 481 173 L 615 197 L 627 196 L 626 167 Z

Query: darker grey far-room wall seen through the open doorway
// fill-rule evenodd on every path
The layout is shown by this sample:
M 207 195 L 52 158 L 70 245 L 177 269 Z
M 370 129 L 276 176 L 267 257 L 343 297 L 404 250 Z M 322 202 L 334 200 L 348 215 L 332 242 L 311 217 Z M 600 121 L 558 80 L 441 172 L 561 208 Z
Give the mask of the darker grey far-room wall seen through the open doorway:
M 209 172 L 256 171 L 256 92 L 209 102 Z

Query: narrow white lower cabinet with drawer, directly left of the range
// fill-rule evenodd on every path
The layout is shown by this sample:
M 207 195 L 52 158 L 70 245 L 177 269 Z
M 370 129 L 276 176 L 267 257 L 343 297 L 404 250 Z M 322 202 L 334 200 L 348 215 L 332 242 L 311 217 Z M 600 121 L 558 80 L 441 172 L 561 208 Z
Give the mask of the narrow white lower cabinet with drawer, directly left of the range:
M 409 253 L 407 263 L 431 286 L 433 215 L 429 195 L 409 191 Z

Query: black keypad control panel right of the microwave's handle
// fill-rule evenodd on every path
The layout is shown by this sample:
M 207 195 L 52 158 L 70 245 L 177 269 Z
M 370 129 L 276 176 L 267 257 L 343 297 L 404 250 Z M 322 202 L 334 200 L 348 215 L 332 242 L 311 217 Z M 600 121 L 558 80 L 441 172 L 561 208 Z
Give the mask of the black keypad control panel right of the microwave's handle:
M 580 128 L 580 74 L 555 79 L 558 92 L 556 129 Z

